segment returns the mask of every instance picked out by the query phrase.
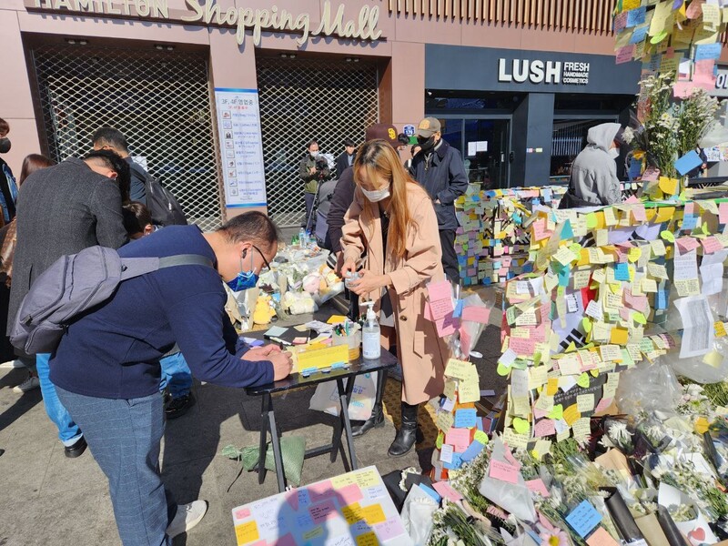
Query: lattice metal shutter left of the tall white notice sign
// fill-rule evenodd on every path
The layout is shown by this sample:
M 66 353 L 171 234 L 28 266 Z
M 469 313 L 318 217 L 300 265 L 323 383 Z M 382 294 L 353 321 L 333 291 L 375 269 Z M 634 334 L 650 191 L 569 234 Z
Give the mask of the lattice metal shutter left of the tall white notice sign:
M 83 156 L 97 128 L 116 127 L 131 155 L 175 194 L 190 222 L 203 229 L 220 225 L 207 51 L 70 39 L 26 46 L 45 154 L 56 161 Z

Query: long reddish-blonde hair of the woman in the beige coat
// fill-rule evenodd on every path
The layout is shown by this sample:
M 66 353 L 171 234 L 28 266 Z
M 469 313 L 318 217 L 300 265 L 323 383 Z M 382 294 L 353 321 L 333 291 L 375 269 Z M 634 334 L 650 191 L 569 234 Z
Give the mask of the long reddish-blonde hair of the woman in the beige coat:
M 404 258 L 407 254 L 407 229 L 414 222 L 410 207 L 407 205 L 408 186 L 417 187 L 417 183 L 412 180 L 409 173 L 399 161 L 399 155 L 386 140 L 380 138 L 369 140 L 361 147 L 354 160 L 354 180 L 359 184 L 361 173 L 365 172 L 369 181 L 374 182 L 379 177 L 389 180 L 391 187 L 389 192 L 391 200 L 389 202 L 389 237 L 387 238 L 387 248 L 397 258 Z M 358 189 L 360 194 L 360 189 Z M 364 206 L 362 207 L 362 217 L 365 223 L 372 216 L 372 207 L 376 207 L 376 203 L 369 203 L 367 197 L 361 196 L 359 199 Z

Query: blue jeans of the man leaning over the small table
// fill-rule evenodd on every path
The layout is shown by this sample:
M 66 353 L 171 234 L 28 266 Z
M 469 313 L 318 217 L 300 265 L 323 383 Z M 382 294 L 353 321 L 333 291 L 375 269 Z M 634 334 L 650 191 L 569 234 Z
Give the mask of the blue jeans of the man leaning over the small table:
M 99 399 L 57 389 L 84 430 L 88 449 L 108 478 L 119 536 L 125 546 L 170 545 L 167 503 L 159 474 L 164 405 L 157 392 L 139 399 Z M 172 510 L 169 511 L 168 507 Z

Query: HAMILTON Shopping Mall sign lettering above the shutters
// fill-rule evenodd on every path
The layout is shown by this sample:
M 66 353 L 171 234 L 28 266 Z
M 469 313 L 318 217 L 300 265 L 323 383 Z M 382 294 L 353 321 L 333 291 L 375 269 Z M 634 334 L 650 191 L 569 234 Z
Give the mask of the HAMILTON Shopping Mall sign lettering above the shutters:
M 246 31 L 252 31 L 253 43 L 260 45 L 263 32 L 285 32 L 298 35 L 298 45 L 313 36 L 338 36 L 344 39 L 374 41 L 381 36 L 377 29 L 379 6 L 364 5 L 357 19 L 344 19 L 344 5 L 336 12 L 329 0 L 323 3 L 321 20 L 311 26 L 311 15 L 294 14 L 278 6 L 269 9 L 250 7 L 220 8 L 215 0 L 185 0 L 187 15 L 174 20 L 207 26 L 235 28 L 238 44 L 245 42 Z M 169 21 L 168 0 L 25 0 L 28 11 L 54 12 L 72 15 L 105 15 L 109 17 Z

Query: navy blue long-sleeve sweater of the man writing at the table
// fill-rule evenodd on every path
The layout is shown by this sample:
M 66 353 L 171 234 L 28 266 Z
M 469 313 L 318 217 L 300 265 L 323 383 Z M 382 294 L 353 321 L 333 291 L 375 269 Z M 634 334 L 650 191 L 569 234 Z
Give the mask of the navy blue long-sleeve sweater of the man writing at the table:
M 123 258 L 215 254 L 197 226 L 170 226 L 119 249 Z M 175 342 L 200 380 L 247 387 L 273 380 L 268 361 L 240 359 L 248 346 L 225 312 L 227 295 L 215 268 L 159 269 L 119 285 L 100 308 L 72 323 L 50 361 L 61 389 L 106 399 L 159 390 L 161 359 Z

